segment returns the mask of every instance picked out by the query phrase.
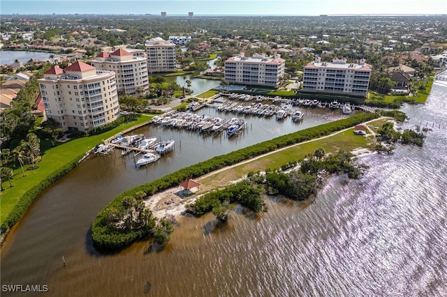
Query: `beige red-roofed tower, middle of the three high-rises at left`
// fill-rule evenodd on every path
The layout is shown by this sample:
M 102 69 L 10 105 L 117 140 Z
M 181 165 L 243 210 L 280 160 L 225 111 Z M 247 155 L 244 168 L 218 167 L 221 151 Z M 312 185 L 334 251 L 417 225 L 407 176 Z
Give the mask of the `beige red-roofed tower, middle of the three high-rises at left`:
M 114 51 L 98 54 L 91 65 L 98 70 L 114 71 L 117 90 L 122 95 L 141 96 L 149 92 L 146 54 L 142 50 L 127 50 L 125 46 L 115 47 Z

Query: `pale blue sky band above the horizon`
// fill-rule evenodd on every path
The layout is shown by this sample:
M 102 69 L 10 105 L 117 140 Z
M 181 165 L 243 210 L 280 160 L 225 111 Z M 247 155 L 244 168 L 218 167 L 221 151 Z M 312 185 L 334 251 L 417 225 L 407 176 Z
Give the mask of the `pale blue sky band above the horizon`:
M 447 14 L 447 0 L 0 0 L 0 14 L 160 15 Z

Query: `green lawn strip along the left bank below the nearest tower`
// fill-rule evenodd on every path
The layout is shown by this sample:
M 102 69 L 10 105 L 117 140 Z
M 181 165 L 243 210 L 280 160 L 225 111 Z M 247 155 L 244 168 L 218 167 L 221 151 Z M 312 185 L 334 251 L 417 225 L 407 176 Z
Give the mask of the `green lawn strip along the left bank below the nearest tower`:
M 60 167 L 71 162 L 78 157 L 78 155 L 86 153 L 97 144 L 101 144 L 103 139 L 108 139 L 114 135 L 120 134 L 123 130 L 131 128 L 133 125 L 149 121 L 150 119 L 152 119 L 152 116 L 140 115 L 137 121 L 124 123 L 123 125 L 119 125 L 119 127 L 104 132 L 101 135 L 73 139 L 64 144 L 49 148 L 43 153 L 41 162 L 36 164 L 38 169 L 27 170 L 27 167 L 30 165 L 24 167 L 25 177 L 22 177 L 22 169 L 20 169 L 20 167 L 15 169 L 11 181 L 13 183 L 13 188 L 10 188 L 7 180 L 2 181 L 5 190 L 1 192 L 0 224 L 3 224 L 6 220 L 10 211 L 15 204 L 17 204 L 18 199 L 20 199 L 25 192 L 33 188 L 34 185 L 41 183 L 46 176 L 49 176 L 52 172 L 55 172 Z

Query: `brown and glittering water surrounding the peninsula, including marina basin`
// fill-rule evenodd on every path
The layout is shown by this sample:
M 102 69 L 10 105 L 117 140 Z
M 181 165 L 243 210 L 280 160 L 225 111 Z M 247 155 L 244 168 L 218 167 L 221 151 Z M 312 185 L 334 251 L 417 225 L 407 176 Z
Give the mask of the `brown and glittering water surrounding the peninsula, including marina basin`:
M 362 157 L 364 177 L 330 178 L 307 207 L 268 198 L 268 213 L 238 207 L 223 226 L 212 214 L 181 218 L 163 250 L 143 241 L 101 254 L 89 227 L 119 192 L 340 115 L 309 111 L 300 125 L 247 119 L 251 130 L 234 141 L 142 128 L 182 143 L 145 169 L 130 156 L 92 158 L 45 190 L 1 248 L 1 284 L 47 284 L 46 296 L 446 296 L 446 93 L 434 84 L 426 105 L 403 108 L 404 127 L 432 128 L 423 148 Z

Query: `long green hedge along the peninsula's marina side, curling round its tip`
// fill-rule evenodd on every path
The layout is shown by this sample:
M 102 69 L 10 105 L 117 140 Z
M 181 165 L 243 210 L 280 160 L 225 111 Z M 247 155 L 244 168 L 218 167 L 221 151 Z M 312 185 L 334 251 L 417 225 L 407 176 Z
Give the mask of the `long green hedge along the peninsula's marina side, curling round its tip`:
M 105 206 L 105 208 L 98 213 L 91 227 L 93 241 L 96 246 L 101 248 L 123 248 L 126 245 L 133 243 L 133 241 L 147 238 L 154 234 L 154 231 L 149 227 L 146 228 L 138 225 L 138 228 L 129 227 L 124 229 L 122 228 L 122 224 L 116 223 L 116 218 L 110 220 L 111 216 L 115 214 L 127 216 L 128 208 L 126 208 L 125 201 L 126 199 L 129 199 L 129 197 L 135 197 L 135 199 L 150 199 L 150 196 L 154 195 L 156 192 L 176 186 L 178 183 L 188 178 L 197 178 L 223 167 L 249 160 L 258 155 L 276 151 L 279 148 L 330 135 L 332 132 L 353 127 L 358 123 L 376 119 L 378 116 L 378 114 L 361 113 L 353 115 L 347 119 L 318 125 L 313 128 L 307 128 L 289 135 L 283 135 L 270 141 L 248 146 L 247 148 L 242 148 L 227 153 L 226 155 L 219 155 L 210 160 L 199 162 L 196 165 L 179 169 L 177 172 L 168 174 L 163 178 L 127 190 L 121 195 L 118 195 L 112 202 L 110 202 L 110 204 Z M 145 193 L 145 197 L 142 197 L 142 192 Z

